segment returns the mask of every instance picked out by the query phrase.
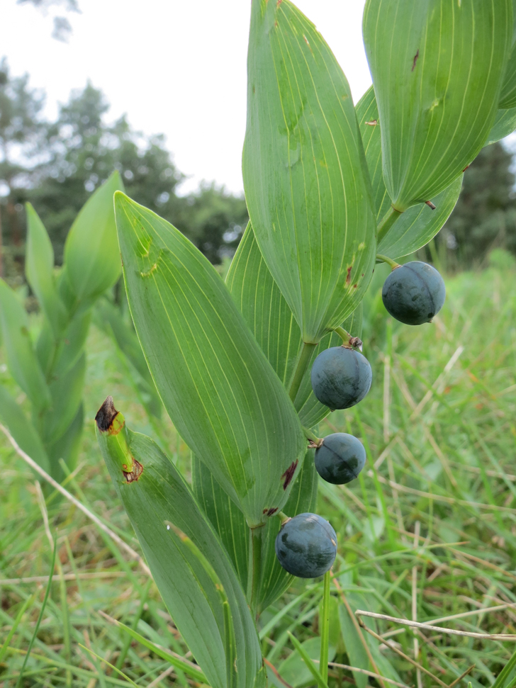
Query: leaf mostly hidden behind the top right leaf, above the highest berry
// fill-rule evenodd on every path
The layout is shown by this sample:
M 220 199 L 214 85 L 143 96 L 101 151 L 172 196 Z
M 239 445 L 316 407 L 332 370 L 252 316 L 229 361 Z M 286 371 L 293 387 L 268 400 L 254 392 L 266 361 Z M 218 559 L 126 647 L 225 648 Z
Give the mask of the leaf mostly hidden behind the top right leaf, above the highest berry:
M 381 169 L 381 123 L 373 86 L 360 98 L 356 109 L 373 186 L 376 221 L 379 223 L 391 208 L 391 198 Z M 390 258 L 400 258 L 425 246 L 449 218 L 459 198 L 461 186 L 462 175 L 431 199 L 436 206 L 435 210 L 424 203 L 405 210 L 387 234 L 378 237 L 377 252 Z

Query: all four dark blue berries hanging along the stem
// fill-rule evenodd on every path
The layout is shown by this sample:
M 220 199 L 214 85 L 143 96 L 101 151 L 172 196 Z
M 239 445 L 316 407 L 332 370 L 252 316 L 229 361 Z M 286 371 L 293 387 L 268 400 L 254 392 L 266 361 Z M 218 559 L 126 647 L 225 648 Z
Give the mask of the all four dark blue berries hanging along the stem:
M 405 325 L 432 322 L 444 304 L 444 281 L 436 269 L 420 261 L 396 266 L 382 288 L 386 310 Z M 350 346 L 322 351 L 312 366 L 313 393 L 331 410 L 358 404 L 371 388 L 369 361 Z M 357 478 L 366 463 L 361 441 L 344 432 L 326 436 L 315 449 L 315 468 L 323 480 L 344 485 Z M 300 578 L 324 575 L 337 556 L 337 535 L 317 514 L 287 519 L 276 537 L 276 556 L 283 568 Z

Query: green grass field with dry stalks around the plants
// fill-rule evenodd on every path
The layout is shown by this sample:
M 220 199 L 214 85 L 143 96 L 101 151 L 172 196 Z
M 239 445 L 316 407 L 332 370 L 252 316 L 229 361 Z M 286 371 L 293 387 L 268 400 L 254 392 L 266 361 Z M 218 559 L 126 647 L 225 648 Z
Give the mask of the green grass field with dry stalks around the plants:
M 434 323 L 417 328 L 388 320 L 378 293 L 369 295 L 363 338 L 373 388 L 359 407 L 332 413 L 320 426 L 321 435 L 356 434 L 368 453 L 359 480 L 320 483 L 318 512 L 339 538 L 330 688 L 489 686 L 516 648 L 364 619 L 386 645 L 357 628 L 352 614 L 362 609 L 456 631 L 516 633 L 516 268 L 500 259 L 482 273 L 448 279 L 447 292 Z M 153 436 L 157 428 L 125 383 L 111 341 L 93 328 L 87 351 L 88 420 L 66 487 L 139 551 L 96 446 L 93 418 L 109 393 L 130 427 Z M 7 379 L 5 371 L 0 376 Z M 172 424 L 164 421 L 159 432 L 188 474 L 189 450 Z M 52 550 L 36 476 L 2 437 L 0 466 L 0 686 L 15 687 Z M 77 507 L 51 495 L 46 508 L 57 567 L 23 686 L 128 685 L 107 662 L 138 686 L 193 684 L 103 616 L 189 657 L 155 585 Z M 271 670 L 271 685 L 313 685 L 287 631 L 318 658 L 321 597 L 322 582 L 300 581 L 260 619 L 264 653 L 283 679 Z

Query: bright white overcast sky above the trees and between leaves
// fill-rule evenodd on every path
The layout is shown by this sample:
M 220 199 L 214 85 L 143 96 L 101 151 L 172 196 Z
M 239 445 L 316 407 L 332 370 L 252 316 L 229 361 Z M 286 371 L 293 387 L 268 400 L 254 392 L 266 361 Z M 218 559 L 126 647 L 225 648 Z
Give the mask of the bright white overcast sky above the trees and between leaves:
M 365 0 L 297 0 L 329 43 L 354 101 L 371 84 L 361 40 Z M 145 134 L 164 133 L 191 179 L 242 190 L 250 0 L 79 0 L 69 43 L 51 38 L 52 15 L 0 0 L 0 57 L 47 92 L 47 114 L 87 79 Z M 52 12 L 55 12 L 52 10 Z M 57 10 L 57 13 L 63 14 Z

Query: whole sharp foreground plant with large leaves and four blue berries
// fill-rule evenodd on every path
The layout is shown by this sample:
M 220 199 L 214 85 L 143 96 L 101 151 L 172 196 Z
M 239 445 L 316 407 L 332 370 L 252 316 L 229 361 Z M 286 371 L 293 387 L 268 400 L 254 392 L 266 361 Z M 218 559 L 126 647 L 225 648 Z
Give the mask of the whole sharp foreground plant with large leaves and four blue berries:
M 374 86 L 354 107 L 340 65 L 296 6 L 252 0 L 250 222 L 225 283 L 175 227 L 115 195 L 130 312 L 192 451 L 192 483 L 125 426 L 111 397 L 97 416 L 99 443 L 213 688 L 266 684 L 255 623 L 291 575 L 324 574 L 327 609 L 337 533 L 346 531 L 313 513 L 318 474 L 349 482 L 365 450 L 347 434 L 320 439 L 316 428 L 371 385 L 358 338 L 376 262 L 395 267 L 384 290 L 395 317 L 427 322 L 442 306 L 434 270 L 396 259 L 434 237 L 464 168 L 516 128 L 504 109 L 515 88 L 512 20 L 512 0 L 367 0 Z M 325 624 L 320 672 L 310 669 L 322 686 Z

